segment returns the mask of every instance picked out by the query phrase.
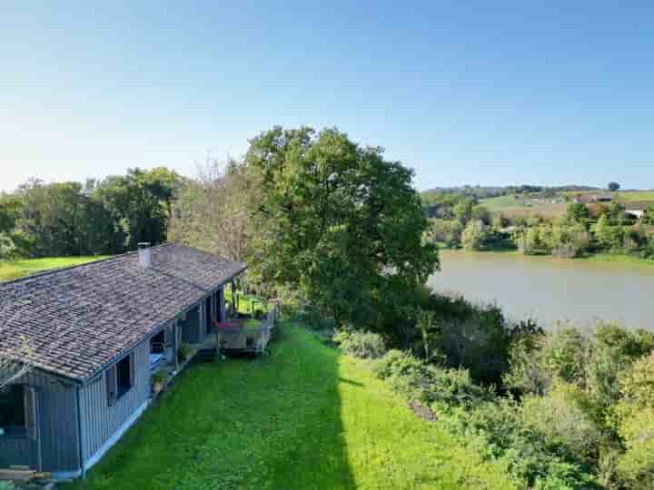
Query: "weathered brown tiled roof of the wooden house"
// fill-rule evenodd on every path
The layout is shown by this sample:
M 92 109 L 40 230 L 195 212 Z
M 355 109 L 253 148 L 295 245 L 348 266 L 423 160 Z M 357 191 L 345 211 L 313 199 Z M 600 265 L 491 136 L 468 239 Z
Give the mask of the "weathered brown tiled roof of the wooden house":
M 26 338 L 36 368 L 84 380 L 244 269 L 169 243 L 148 268 L 133 252 L 0 283 L 0 355 Z

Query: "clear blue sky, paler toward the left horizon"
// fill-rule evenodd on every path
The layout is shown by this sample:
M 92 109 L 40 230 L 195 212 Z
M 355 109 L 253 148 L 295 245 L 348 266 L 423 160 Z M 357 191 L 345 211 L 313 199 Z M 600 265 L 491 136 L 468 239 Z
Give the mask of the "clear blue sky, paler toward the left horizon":
M 0 3 L 0 190 L 193 175 L 274 124 L 421 189 L 654 188 L 654 2 Z

